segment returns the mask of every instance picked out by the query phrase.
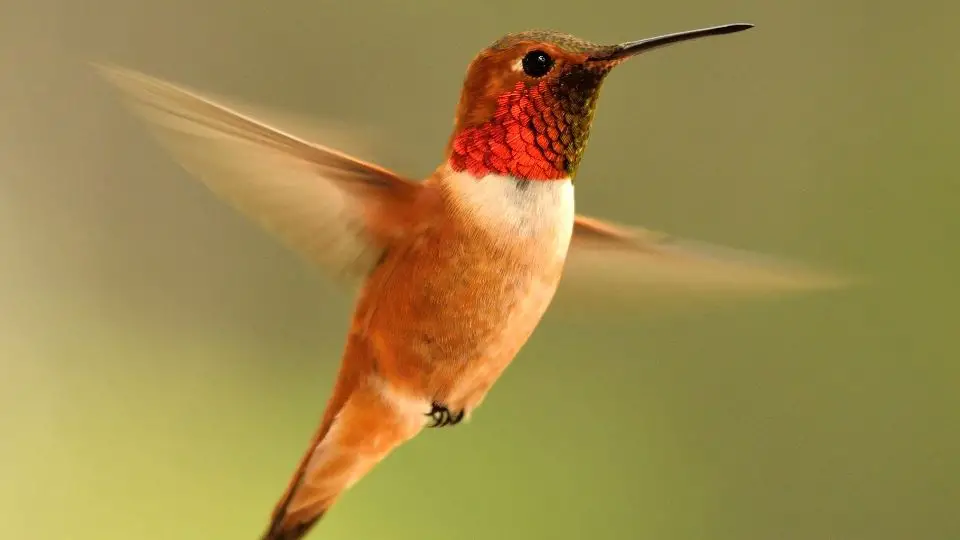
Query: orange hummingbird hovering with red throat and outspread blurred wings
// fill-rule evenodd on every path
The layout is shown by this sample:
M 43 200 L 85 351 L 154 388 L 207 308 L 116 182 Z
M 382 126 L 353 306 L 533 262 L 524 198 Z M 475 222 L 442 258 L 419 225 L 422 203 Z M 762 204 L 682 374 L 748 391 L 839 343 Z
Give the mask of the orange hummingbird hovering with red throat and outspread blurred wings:
M 749 28 L 615 45 L 546 30 L 507 34 L 470 62 L 443 160 L 425 179 L 186 87 L 96 64 L 216 196 L 318 268 L 358 284 L 332 393 L 263 540 L 305 537 L 394 449 L 425 428 L 470 418 L 561 278 L 612 296 L 634 286 L 777 293 L 841 283 L 575 211 L 577 170 L 611 70 L 666 45 Z

